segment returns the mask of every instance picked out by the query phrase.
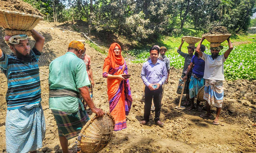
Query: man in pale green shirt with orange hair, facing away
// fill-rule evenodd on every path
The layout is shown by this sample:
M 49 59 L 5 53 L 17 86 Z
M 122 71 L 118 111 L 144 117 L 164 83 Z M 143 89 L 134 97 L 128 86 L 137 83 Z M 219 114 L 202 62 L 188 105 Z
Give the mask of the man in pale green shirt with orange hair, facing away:
M 95 107 L 90 98 L 90 81 L 83 58 L 84 45 L 72 41 L 68 52 L 49 65 L 49 109 L 58 125 L 58 134 L 63 153 L 68 153 L 68 139 L 76 137 L 89 120 L 84 106 L 101 117 L 104 112 Z M 84 99 L 83 104 L 80 95 Z

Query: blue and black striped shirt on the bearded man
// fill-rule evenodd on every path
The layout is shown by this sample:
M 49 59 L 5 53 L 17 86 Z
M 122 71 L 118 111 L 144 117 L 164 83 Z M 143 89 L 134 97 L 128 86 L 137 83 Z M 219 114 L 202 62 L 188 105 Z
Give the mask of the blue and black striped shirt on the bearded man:
M 38 59 L 41 55 L 35 47 L 30 51 L 31 62 L 25 63 L 14 54 L 0 57 L 0 69 L 8 80 L 6 92 L 7 110 L 41 102 L 41 86 Z

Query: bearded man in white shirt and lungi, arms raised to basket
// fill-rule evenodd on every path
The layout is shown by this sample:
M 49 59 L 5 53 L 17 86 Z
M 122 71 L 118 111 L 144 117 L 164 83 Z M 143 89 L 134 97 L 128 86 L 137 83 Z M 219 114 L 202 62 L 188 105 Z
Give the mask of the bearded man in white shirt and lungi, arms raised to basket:
M 233 45 L 228 38 L 228 50 L 223 54 L 219 55 L 219 51 L 223 49 L 222 46 L 211 47 L 212 55 L 208 55 L 200 51 L 200 46 L 205 38 L 202 37 L 201 41 L 197 45 L 196 52 L 200 58 L 205 61 L 204 75 L 205 87 L 203 99 L 206 100 L 207 114 L 202 114 L 200 117 L 209 118 L 211 116 L 211 105 L 216 107 L 216 118 L 213 124 L 219 124 L 219 113 L 223 103 L 224 88 L 224 62 L 227 60 L 228 55 L 233 49 Z

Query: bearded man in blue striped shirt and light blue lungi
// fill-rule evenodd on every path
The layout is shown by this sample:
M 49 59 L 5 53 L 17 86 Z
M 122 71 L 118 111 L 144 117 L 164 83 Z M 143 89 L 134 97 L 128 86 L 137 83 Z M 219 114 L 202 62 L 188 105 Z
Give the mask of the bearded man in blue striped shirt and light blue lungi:
M 41 106 L 41 87 L 38 59 L 44 37 L 31 31 L 35 45 L 31 49 L 27 35 L 5 36 L 13 53 L 0 49 L 0 69 L 8 80 L 6 92 L 6 152 L 36 153 L 42 148 L 45 119 Z

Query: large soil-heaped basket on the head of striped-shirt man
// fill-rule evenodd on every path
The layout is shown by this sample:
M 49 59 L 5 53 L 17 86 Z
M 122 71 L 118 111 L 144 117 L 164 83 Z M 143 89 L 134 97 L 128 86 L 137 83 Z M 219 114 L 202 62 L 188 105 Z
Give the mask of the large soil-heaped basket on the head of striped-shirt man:
M 43 15 L 20 0 L 0 0 L 0 26 L 10 30 L 33 30 Z

